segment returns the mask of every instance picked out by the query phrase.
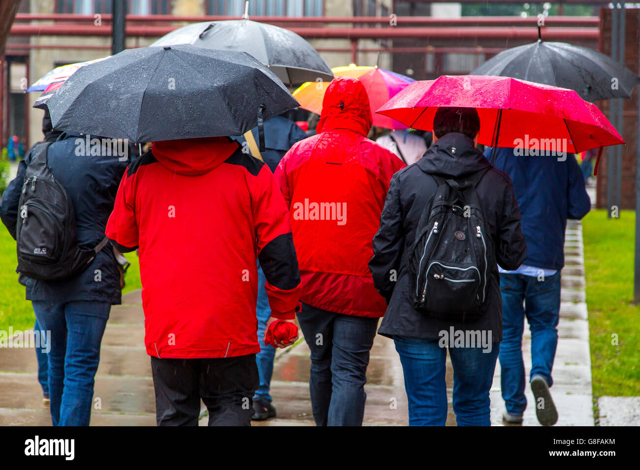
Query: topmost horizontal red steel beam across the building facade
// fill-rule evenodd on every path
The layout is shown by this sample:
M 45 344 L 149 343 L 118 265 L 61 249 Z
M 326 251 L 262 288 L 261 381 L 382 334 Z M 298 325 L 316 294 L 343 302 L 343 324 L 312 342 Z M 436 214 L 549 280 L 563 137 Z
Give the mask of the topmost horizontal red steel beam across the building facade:
M 202 22 L 220 21 L 229 19 L 240 19 L 239 17 L 228 16 L 174 16 L 174 15 L 127 15 L 127 22 Z M 389 17 L 251 17 L 253 21 L 266 23 L 352 23 L 352 24 L 389 24 Z M 30 20 L 51 20 L 65 22 L 90 22 L 93 24 L 93 15 L 74 15 L 67 13 L 19 13 L 16 21 Z M 101 15 L 101 20 L 111 22 L 111 15 Z M 460 18 L 437 18 L 437 17 L 396 17 L 397 26 L 407 25 L 436 25 L 436 26 L 537 26 L 536 17 L 460 17 Z M 596 27 L 598 17 L 546 17 L 545 25 L 550 26 L 572 26 L 572 27 Z

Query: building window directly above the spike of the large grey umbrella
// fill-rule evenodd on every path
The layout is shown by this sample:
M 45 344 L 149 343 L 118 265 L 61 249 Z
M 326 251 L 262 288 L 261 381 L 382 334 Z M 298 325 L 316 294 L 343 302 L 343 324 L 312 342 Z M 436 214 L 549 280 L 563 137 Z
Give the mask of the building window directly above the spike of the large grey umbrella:
M 244 0 L 207 0 L 207 14 L 239 17 L 244 13 Z M 249 16 L 321 17 L 323 0 L 252 0 Z

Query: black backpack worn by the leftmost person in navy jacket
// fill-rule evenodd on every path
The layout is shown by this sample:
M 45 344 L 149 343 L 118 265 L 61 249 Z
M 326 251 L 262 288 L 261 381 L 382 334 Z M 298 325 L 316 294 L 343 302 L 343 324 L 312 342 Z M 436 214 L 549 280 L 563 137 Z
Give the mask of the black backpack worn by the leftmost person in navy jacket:
M 40 281 L 61 281 L 85 270 L 106 237 L 91 250 L 76 239 L 76 211 L 65 188 L 47 166 L 49 143 L 33 148 L 18 206 L 18 271 Z

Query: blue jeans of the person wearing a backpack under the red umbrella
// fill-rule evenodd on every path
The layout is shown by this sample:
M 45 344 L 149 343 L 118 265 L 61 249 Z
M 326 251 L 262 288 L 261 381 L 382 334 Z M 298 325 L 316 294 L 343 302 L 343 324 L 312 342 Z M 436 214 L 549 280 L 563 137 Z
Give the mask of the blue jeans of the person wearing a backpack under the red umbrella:
M 447 422 L 447 348 L 438 340 L 394 336 L 409 400 L 410 426 L 444 426 Z M 500 345 L 452 347 L 453 411 L 458 426 L 490 426 L 489 391 Z

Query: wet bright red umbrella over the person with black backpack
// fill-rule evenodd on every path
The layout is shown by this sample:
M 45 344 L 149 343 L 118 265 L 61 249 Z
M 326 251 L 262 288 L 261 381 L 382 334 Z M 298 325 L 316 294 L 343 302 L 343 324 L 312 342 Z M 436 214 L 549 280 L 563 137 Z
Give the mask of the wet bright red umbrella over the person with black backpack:
M 433 116 L 443 106 L 475 107 L 478 143 L 492 147 L 579 153 L 625 143 L 600 109 L 575 91 L 511 77 L 442 75 L 413 82 L 377 113 L 433 130 Z

